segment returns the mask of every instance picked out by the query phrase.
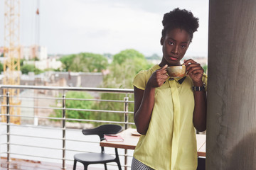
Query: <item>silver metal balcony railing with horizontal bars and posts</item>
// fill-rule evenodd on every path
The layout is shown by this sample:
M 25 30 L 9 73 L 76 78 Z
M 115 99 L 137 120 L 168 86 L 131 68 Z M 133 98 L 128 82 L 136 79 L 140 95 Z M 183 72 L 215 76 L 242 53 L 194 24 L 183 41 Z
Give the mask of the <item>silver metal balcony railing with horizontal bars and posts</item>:
M 0 136 L 6 136 L 6 142 L 1 142 L 0 147 L 3 145 L 6 145 L 6 152 L 1 152 L 1 154 L 6 154 L 7 155 L 7 161 L 11 160 L 12 155 L 21 155 L 21 156 L 28 156 L 28 157 L 38 157 L 38 158 L 46 158 L 46 159 L 58 159 L 62 160 L 62 169 L 65 169 L 65 162 L 66 161 L 73 161 L 72 159 L 68 159 L 66 157 L 66 152 L 78 152 L 77 149 L 70 149 L 67 147 L 66 142 L 88 142 L 88 143 L 95 143 L 91 141 L 85 141 L 85 140 L 78 140 L 78 139 L 68 139 L 67 137 L 67 130 L 75 130 L 72 128 L 67 128 L 67 121 L 78 121 L 80 123 L 84 122 L 90 122 L 90 123 L 114 123 L 114 124 L 120 124 L 124 125 L 124 129 L 129 128 L 128 125 L 134 125 L 133 122 L 129 122 L 129 114 L 133 114 L 132 111 L 129 111 L 129 104 L 134 103 L 134 101 L 130 101 L 129 97 L 127 94 L 133 94 L 134 90 L 133 89 L 108 89 L 108 88 L 89 88 L 89 87 L 63 87 L 63 86 L 23 86 L 23 85 L 3 85 L 0 84 L 0 89 L 23 89 L 23 90 L 50 90 L 50 91 L 60 91 L 58 93 L 62 93 L 62 97 L 42 97 L 42 96 L 11 96 L 9 92 L 7 92 L 6 95 L 2 94 L 0 95 L 0 98 L 4 98 L 5 102 L 0 103 L 1 107 L 5 107 L 6 113 L 0 113 L 0 118 L 6 118 L 7 122 L 6 123 L 0 123 L 0 125 L 6 126 L 6 132 L 0 133 Z M 100 98 L 66 98 L 65 93 L 68 91 L 94 91 L 97 93 L 112 93 L 112 94 L 126 94 L 124 97 L 124 100 L 110 100 L 110 99 L 100 99 Z M 52 107 L 52 106 L 31 106 L 29 104 L 25 104 L 26 106 L 17 106 L 17 105 L 12 105 L 9 101 L 10 98 L 21 98 L 23 100 L 30 100 L 31 98 L 33 100 L 58 100 L 62 101 L 62 106 L 61 107 Z M 110 102 L 110 103 L 123 103 L 124 104 L 124 109 L 122 111 L 112 111 L 112 110 L 97 110 L 97 109 L 87 109 L 87 108 L 67 108 L 66 107 L 66 101 L 95 101 L 95 102 Z M 51 109 L 51 110 L 61 110 L 62 111 L 62 116 L 60 118 L 54 118 L 54 117 L 48 117 L 48 116 L 42 116 L 42 115 L 12 115 L 11 109 L 14 108 L 28 108 L 28 109 Z M 121 109 L 119 109 L 121 110 Z M 90 120 L 90 119 L 78 119 L 78 118 L 66 118 L 65 112 L 66 111 L 87 111 L 90 113 L 112 113 L 112 114 L 123 114 L 124 115 L 124 120 L 122 121 L 114 121 L 114 120 Z M 52 126 L 38 126 L 38 125 L 15 125 L 12 124 L 11 117 L 18 117 L 18 118 L 33 118 L 33 119 L 48 119 L 48 120 L 59 120 L 60 126 L 58 127 L 52 127 Z M 14 127 L 23 127 L 23 128 L 33 128 L 35 130 L 60 130 L 61 137 L 42 137 L 42 136 L 33 136 L 29 134 L 18 134 L 18 133 L 13 133 L 11 131 L 11 128 Z M 78 132 L 78 130 L 75 130 Z M 56 140 L 62 141 L 62 145 L 60 144 L 61 148 L 55 148 L 55 147 L 46 147 L 46 146 L 36 146 L 36 145 L 29 145 L 29 144 L 18 144 L 12 142 L 10 140 L 11 137 L 33 137 L 36 140 Z M 62 150 L 62 157 L 55 158 L 51 155 L 48 156 L 38 156 L 38 155 L 31 155 L 31 154 L 22 154 L 22 153 L 16 153 L 11 149 L 11 146 L 16 146 L 16 147 L 36 147 L 36 148 L 41 148 L 41 149 L 57 149 L 57 150 Z M 81 152 L 86 152 L 86 151 L 81 151 Z M 119 154 L 119 156 L 124 157 L 124 169 L 127 169 L 129 165 L 127 165 L 127 157 L 132 157 L 131 155 L 128 155 L 127 150 L 124 150 L 124 154 Z

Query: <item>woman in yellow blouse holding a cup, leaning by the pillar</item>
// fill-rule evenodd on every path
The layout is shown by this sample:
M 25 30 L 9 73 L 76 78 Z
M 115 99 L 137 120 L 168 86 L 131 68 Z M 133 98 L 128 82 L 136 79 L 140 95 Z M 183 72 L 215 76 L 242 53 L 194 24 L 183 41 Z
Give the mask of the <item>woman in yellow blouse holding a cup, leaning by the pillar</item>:
M 206 74 L 193 60 L 184 60 L 186 76 L 171 79 L 166 67 L 181 65 L 198 18 L 175 8 L 162 21 L 160 64 L 134 78 L 134 123 L 142 134 L 132 169 L 196 169 L 196 132 L 206 130 Z

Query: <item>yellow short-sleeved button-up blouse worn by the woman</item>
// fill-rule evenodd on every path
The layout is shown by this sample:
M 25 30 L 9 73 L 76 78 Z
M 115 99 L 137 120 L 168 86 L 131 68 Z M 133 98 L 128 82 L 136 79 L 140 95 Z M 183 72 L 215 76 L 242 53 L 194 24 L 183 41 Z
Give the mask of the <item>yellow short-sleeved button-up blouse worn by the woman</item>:
M 139 72 L 133 85 L 144 90 L 151 74 L 160 69 Z M 195 170 L 197 167 L 196 132 L 193 127 L 193 81 L 190 77 L 167 79 L 156 88 L 154 108 L 146 135 L 139 138 L 134 158 L 159 170 Z M 203 74 L 203 82 L 207 82 Z M 207 84 L 206 84 L 207 85 Z

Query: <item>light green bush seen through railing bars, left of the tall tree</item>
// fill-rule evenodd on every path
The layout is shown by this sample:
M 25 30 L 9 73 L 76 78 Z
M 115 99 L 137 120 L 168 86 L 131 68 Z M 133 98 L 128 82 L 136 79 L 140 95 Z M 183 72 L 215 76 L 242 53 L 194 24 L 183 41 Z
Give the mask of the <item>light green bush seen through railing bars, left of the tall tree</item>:
M 68 98 L 79 98 L 79 99 L 92 99 L 92 96 L 86 92 L 81 91 L 68 91 L 66 93 L 66 108 L 75 108 L 75 109 L 91 109 L 94 104 L 93 101 L 78 101 L 78 100 L 70 100 Z M 56 104 L 61 103 L 62 101 L 56 101 Z M 74 118 L 74 119 L 90 119 L 94 118 L 94 115 L 90 113 L 90 111 L 65 111 L 66 118 Z M 55 114 L 51 115 L 57 118 L 62 117 L 62 110 L 55 110 Z M 73 120 L 69 120 L 70 122 L 74 122 Z

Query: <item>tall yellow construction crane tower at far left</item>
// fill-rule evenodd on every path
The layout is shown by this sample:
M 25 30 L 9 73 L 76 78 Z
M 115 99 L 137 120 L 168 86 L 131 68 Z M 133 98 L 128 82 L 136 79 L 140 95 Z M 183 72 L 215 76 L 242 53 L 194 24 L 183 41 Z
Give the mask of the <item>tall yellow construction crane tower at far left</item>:
M 4 78 L 3 84 L 19 85 L 20 84 L 20 1 L 5 0 L 4 2 Z M 10 122 L 20 124 L 21 105 L 19 99 L 19 89 L 4 89 L 4 98 L 2 105 L 6 105 L 6 96 L 9 96 Z M 1 107 L 1 113 L 7 113 L 6 107 Z M 2 115 L 2 121 L 6 122 L 6 116 Z

